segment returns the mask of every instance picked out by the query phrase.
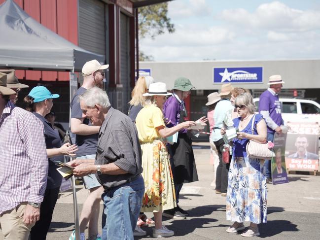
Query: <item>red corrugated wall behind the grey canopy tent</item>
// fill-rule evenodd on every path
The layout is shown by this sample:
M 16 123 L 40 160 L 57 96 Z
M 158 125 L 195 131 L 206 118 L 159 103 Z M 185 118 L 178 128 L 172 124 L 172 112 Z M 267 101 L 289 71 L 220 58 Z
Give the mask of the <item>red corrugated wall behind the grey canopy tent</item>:
M 0 4 L 4 1 L 0 0 Z M 14 1 L 36 21 L 78 45 L 77 0 Z M 26 80 L 69 81 L 69 72 L 17 70 L 16 75 Z

